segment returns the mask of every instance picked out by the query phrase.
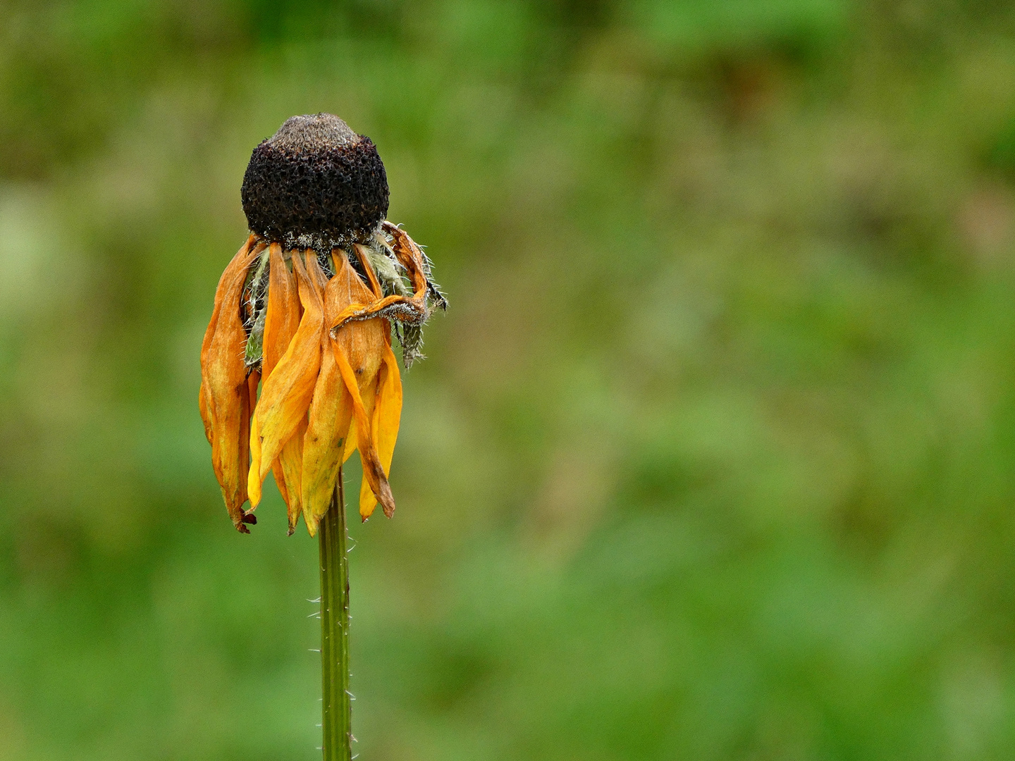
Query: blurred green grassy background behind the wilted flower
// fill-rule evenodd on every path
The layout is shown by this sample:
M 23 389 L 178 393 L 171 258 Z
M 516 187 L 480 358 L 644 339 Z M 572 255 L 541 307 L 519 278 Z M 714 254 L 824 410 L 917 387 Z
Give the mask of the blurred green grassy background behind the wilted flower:
M 197 410 L 253 147 L 452 307 L 353 526 L 361 759 L 1015 757 L 1015 8 L 0 0 L 0 759 L 314 759 L 317 544 Z M 348 479 L 358 483 L 355 468 Z

